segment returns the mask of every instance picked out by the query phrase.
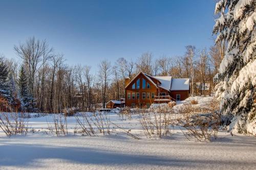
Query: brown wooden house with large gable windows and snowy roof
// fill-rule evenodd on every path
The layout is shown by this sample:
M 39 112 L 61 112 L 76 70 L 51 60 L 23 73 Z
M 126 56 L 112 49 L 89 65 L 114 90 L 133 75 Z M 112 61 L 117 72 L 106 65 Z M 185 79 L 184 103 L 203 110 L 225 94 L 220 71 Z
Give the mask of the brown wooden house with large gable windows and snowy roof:
M 171 76 L 150 76 L 144 72 L 125 79 L 125 106 L 150 107 L 152 103 L 168 103 L 188 98 L 189 79 Z

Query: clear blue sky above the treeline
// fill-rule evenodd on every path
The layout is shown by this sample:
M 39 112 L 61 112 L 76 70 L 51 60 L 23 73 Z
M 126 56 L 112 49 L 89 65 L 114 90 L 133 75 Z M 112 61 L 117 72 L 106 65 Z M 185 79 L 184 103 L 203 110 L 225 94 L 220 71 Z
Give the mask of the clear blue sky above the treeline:
M 186 45 L 214 44 L 214 0 L 1 1 L 0 54 L 16 58 L 14 44 L 47 39 L 70 65 L 134 60 L 144 52 L 184 55 Z

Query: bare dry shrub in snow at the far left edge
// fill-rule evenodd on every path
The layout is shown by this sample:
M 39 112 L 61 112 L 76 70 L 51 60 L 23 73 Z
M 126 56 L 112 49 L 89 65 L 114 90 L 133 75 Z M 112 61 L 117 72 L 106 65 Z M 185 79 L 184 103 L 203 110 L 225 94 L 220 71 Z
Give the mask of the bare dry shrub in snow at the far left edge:
M 16 134 L 28 133 L 28 118 L 18 113 L 0 113 L 0 129 L 10 137 Z

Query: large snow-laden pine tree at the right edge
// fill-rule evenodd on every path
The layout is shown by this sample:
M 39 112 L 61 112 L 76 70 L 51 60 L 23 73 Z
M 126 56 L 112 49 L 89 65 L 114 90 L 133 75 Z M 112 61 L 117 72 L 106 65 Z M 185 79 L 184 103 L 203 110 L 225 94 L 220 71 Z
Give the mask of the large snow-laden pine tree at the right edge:
M 221 0 L 215 14 L 216 43 L 228 42 L 215 76 L 216 96 L 232 118 L 230 130 L 256 135 L 256 1 Z

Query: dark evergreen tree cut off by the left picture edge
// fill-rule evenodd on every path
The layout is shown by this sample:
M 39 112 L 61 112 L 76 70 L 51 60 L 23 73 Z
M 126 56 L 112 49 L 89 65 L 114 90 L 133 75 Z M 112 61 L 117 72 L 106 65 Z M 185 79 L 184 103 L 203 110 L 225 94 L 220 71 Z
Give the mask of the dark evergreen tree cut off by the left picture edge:
M 10 91 L 8 86 L 8 66 L 4 62 L 3 58 L 0 58 L 0 96 L 6 100 L 10 97 Z

